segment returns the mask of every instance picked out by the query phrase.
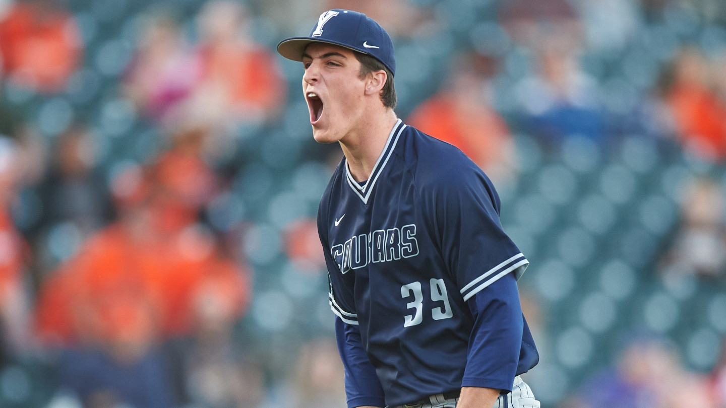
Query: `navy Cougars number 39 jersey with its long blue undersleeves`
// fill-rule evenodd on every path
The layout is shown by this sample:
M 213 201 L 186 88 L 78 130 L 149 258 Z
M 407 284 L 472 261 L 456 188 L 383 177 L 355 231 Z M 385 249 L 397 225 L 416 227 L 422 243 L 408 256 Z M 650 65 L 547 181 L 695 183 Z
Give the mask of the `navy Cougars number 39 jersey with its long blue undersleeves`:
M 341 161 L 318 229 L 350 407 L 510 391 L 537 364 L 515 282 L 529 261 L 502 231 L 491 181 L 456 147 L 399 120 L 367 181 Z

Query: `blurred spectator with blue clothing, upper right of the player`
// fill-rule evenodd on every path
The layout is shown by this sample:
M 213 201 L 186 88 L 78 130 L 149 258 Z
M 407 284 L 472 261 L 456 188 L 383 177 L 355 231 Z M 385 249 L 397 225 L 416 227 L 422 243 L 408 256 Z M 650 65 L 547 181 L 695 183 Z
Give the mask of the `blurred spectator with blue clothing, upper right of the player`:
M 569 136 L 603 142 L 597 83 L 579 64 L 585 36 L 576 9 L 566 0 L 505 1 L 498 17 L 534 54 L 534 76 L 515 88 L 526 130 L 550 145 Z

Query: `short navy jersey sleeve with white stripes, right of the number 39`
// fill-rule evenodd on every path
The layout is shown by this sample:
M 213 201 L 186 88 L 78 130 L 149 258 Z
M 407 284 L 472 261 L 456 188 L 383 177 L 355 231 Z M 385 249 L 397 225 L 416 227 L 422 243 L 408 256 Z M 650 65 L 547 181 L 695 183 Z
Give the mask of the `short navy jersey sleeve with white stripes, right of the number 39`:
M 469 301 L 506 274 L 518 280 L 529 261 L 502 229 L 492 182 L 469 160 L 462 161 L 439 174 L 422 198 L 441 255 Z

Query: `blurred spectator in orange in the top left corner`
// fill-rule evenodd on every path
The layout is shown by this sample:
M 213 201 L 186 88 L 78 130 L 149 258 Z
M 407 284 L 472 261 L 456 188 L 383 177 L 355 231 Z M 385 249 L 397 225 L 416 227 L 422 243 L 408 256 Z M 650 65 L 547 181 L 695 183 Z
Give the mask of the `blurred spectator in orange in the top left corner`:
M 76 21 L 56 0 L 13 3 L 0 38 L 0 78 L 43 94 L 61 91 L 81 63 Z

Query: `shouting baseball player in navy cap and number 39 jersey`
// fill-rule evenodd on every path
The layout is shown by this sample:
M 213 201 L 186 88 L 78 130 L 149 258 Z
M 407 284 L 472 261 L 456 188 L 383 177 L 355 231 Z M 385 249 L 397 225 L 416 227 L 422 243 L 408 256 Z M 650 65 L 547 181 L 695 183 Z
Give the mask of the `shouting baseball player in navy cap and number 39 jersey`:
M 333 9 L 277 50 L 303 62 L 314 139 L 344 154 L 318 231 L 348 407 L 539 407 L 519 377 L 539 360 L 516 285 L 529 261 L 481 169 L 396 118 L 386 30 Z

